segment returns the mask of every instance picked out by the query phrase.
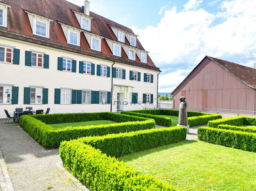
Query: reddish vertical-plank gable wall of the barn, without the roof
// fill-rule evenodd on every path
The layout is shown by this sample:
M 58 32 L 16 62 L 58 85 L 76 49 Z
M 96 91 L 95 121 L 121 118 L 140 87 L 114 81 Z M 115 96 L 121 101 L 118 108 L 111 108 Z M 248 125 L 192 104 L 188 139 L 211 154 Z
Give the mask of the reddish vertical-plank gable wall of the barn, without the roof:
M 173 92 L 174 108 L 181 96 L 188 107 L 256 111 L 256 90 L 207 57 Z

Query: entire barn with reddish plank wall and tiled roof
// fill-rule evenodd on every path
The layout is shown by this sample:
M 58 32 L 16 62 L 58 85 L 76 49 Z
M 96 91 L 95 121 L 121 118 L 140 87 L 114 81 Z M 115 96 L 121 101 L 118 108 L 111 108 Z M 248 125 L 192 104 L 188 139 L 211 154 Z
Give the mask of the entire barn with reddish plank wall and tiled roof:
M 256 69 L 206 56 L 171 93 L 177 109 L 256 115 Z

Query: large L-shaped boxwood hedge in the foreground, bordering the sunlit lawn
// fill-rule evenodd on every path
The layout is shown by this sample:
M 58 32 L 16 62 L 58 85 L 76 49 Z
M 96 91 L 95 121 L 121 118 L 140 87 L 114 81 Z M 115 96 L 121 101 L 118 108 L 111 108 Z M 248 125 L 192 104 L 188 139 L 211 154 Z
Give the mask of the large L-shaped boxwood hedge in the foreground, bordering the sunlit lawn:
M 142 174 L 107 154 L 120 156 L 185 138 L 184 127 L 79 138 L 62 142 L 59 155 L 63 165 L 92 191 L 176 191 L 174 186 Z

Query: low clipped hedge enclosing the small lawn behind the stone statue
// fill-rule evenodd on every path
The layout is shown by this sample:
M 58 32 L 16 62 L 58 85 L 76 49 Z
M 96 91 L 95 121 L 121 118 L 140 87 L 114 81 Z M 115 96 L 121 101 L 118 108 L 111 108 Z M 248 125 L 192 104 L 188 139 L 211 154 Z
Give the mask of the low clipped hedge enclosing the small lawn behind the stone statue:
M 121 114 L 151 118 L 155 120 L 157 125 L 170 127 L 172 126 L 172 120 L 170 117 L 157 116 L 157 115 L 179 116 L 179 111 L 171 110 L 171 109 L 143 109 L 143 110 L 133 110 L 133 111 L 122 111 Z M 188 122 L 190 127 L 204 125 L 204 124 L 207 124 L 208 121 L 221 119 L 221 118 L 222 116 L 217 114 L 188 111 Z

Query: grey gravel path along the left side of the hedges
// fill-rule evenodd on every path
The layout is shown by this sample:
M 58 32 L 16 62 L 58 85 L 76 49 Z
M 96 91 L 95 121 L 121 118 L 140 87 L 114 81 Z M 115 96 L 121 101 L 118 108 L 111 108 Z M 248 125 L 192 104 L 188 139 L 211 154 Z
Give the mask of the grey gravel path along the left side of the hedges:
M 0 150 L 15 191 L 89 191 L 63 167 L 58 149 L 45 149 L 17 123 L 0 120 Z

